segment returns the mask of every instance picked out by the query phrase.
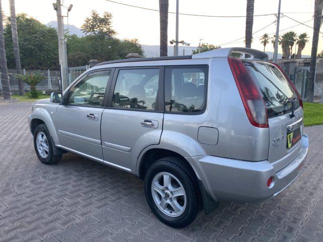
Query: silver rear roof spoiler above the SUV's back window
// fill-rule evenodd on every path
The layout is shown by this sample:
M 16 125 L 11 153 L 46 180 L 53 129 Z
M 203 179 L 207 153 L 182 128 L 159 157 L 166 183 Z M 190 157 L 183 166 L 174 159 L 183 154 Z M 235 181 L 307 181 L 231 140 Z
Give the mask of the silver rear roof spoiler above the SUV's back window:
M 258 59 L 260 61 L 268 61 L 268 55 L 257 49 L 244 48 L 244 47 L 232 47 L 232 48 L 219 48 L 213 49 L 207 52 L 193 54 L 192 58 L 212 58 L 212 57 L 230 57 L 232 52 L 238 52 L 243 54 L 249 54 L 253 58 L 247 59 Z

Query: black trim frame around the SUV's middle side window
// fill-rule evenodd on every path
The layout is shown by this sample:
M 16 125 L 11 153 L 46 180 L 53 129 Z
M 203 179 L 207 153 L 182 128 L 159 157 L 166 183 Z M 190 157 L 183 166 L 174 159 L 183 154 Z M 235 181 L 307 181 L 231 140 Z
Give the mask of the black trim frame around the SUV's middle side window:
M 116 83 L 118 79 L 119 72 L 121 70 L 139 70 L 139 69 L 159 69 L 159 79 L 158 79 L 158 92 L 156 95 L 157 110 L 150 109 L 140 109 L 140 108 L 126 108 L 126 107 L 114 107 L 112 106 L 113 95 L 116 88 Z M 140 66 L 140 67 L 120 67 L 116 68 L 114 72 L 114 77 L 110 86 L 109 96 L 107 97 L 107 102 L 105 108 L 107 109 L 117 109 L 117 110 L 127 110 L 127 111 L 141 111 L 141 112 L 164 112 L 164 67 L 163 66 Z

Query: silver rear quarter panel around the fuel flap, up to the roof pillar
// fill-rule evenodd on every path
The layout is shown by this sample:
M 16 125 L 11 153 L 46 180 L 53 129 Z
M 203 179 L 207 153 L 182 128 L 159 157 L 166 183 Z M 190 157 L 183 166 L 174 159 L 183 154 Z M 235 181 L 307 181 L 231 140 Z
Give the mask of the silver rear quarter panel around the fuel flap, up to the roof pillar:
M 186 156 L 208 154 L 248 161 L 266 160 L 269 129 L 259 129 L 250 124 L 227 58 L 211 58 L 208 65 L 205 112 L 198 115 L 165 113 L 161 140 L 164 132 L 176 132 L 194 140 L 194 143 L 186 144 Z M 216 145 L 197 141 L 198 129 L 202 126 L 218 129 Z

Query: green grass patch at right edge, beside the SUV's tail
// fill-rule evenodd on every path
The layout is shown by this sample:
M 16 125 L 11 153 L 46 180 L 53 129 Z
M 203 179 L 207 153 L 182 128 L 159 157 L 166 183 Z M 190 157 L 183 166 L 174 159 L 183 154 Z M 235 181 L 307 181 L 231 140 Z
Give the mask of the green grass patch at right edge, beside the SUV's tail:
M 323 104 L 304 102 L 304 126 L 323 125 Z

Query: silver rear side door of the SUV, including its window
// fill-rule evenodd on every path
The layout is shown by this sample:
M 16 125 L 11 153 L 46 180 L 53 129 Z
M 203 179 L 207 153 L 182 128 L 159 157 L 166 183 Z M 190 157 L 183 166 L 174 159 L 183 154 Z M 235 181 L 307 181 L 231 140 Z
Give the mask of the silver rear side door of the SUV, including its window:
M 104 163 L 134 173 L 139 153 L 158 144 L 163 130 L 162 72 L 153 67 L 116 73 L 110 107 L 102 113 L 103 158 Z

